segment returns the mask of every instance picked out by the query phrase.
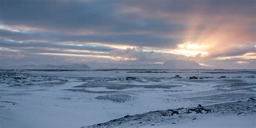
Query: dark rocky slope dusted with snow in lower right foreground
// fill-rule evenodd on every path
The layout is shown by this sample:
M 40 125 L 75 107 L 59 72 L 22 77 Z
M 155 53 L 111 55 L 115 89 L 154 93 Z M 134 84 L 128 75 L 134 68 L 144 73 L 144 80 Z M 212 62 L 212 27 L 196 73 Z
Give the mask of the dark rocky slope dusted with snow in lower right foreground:
M 127 115 L 123 118 L 113 119 L 109 122 L 95 124 L 91 126 L 83 126 L 82 128 L 96 128 L 96 127 L 124 127 L 124 126 L 142 126 L 145 124 L 156 125 L 159 122 L 167 122 L 176 124 L 182 119 L 195 120 L 195 115 L 204 116 L 204 114 L 212 114 L 218 116 L 219 114 L 250 114 L 256 112 L 256 102 L 254 98 L 247 101 L 238 101 L 232 103 L 214 104 L 208 106 L 198 105 L 197 107 L 169 109 L 160 111 L 150 111 L 142 114 Z

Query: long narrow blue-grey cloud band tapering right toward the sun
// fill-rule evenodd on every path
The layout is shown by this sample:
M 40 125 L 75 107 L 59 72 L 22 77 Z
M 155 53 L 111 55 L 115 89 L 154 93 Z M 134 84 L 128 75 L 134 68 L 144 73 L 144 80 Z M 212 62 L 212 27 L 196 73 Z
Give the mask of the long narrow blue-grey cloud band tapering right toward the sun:
M 14 39 L 17 41 L 26 41 L 30 39 L 46 40 L 49 42 L 98 42 L 106 44 L 126 44 L 135 46 L 171 46 L 181 39 L 154 37 L 145 34 L 129 34 L 129 35 L 60 35 L 58 33 L 26 33 L 14 32 L 0 29 L 0 37 L 7 39 Z M 54 45 L 54 44 L 53 44 Z M 82 48 L 82 47 L 81 47 Z

